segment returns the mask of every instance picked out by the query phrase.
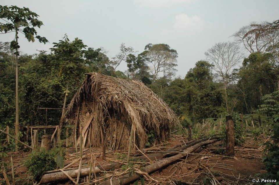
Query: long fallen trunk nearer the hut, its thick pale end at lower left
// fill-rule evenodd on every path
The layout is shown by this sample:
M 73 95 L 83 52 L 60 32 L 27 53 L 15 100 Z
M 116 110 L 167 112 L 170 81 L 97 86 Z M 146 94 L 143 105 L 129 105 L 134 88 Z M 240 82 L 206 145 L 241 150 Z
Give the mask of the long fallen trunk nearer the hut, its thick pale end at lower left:
M 191 140 L 189 142 L 185 142 L 185 144 L 182 144 L 182 146 L 181 146 L 181 144 L 176 145 L 175 147 L 181 146 L 178 149 L 170 149 L 170 150 L 165 151 L 164 153 L 160 152 L 160 153 L 148 154 L 147 157 L 151 160 L 162 159 L 162 158 L 167 157 L 167 156 L 175 155 L 174 152 L 176 152 L 176 151 L 184 150 L 185 148 L 188 148 L 190 146 L 193 146 L 193 145 L 195 145 L 199 142 L 203 142 L 203 141 L 206 141 L 206 140 L 208 140 L 208 138 L 198 139 L 198 140 Z M 144 161 L 147 161 L 146 160 L 147 158 L 145 156 L 133 157 L 131 160 L 135 160 L 135 159 L 136 160 L 142 159 Z M 110 163 L 110 164 L 104 164 L 102 166 L 101 165 L 95 166 L 95 168 L 92 167 L 91 171 L 92 171 L 92 173 L 94 173 L 94 171 L 95 171 L 95 173 L 101 173 L 101 171 L 109 171 L 109 170 L 120 168 L 121 165 L 123 165 L 123 164 L 113 162 L 113 163 Z M 90 167 L 82 168 L 80 177 L 84 177 L 84 176 L 89 175 L 89 172 L 90 172 Z M 76 178 L 77 175 L 78 175 L 78 169 L 71 169 L 71 170 L 64 169 L 64 172 L 56 171 L 56 172 L 44 174 L 42 176 L 41 180 L 40 180 L 40 184 L 67 180 L 67 179 L 69 179 L 69 177 L 65 173 L 67 173 L 67 175 L 69 175 L 72 178 Z

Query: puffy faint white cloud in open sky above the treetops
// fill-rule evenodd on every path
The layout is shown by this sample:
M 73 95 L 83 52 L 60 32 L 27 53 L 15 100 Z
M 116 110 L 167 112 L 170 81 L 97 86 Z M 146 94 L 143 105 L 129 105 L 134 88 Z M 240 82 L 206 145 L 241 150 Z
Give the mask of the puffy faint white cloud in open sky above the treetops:
M 198 15 L 188 16 L 185 13 L 175 16 L 174 24 L 170 29 L 162 30 L 163 35 L 192 33 L 203 30 L 205 21 Z

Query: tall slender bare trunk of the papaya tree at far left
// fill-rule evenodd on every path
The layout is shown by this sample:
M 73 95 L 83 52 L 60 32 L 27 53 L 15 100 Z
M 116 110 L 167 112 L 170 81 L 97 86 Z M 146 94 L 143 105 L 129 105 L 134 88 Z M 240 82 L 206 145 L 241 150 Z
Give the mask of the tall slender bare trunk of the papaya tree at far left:
M 18 32 L 15 30 L 15 41 L 17 43 Z M 19 133 L 19 105 L 18 105 L 18 48 L 15 54 L 15 151 L 18 151 L 18 133 Z

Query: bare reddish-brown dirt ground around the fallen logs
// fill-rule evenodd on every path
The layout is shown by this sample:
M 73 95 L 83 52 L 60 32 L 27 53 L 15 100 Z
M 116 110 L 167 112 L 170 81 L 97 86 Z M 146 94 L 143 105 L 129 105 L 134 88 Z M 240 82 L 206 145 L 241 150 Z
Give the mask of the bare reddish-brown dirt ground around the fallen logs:
M 144 184 L 253 184 L 252 179 L 257 179 L 256 174 L 264 173 L 264 165 L 261 162 L 262 150 L 264 146 L 260 143 L 266 141 L 267 138 L 245 137 L 245 143 L 242 146 L 235 147 L 235 158 L 216 157 L 214 155 L 223 155 L 224 146 L 221 141 L 198 148 L 195 153 L 203 155 L 188 155 L 177 162 L 160 169 L 155 173 L 143 175 Z M 187 139 L 180 135 L 172 135 L 168 142 L 147 148 L 143 152 L 147 155 L 150 151 L 163 151 L 172 146 L 183 144 L 181 141 Z M 99 184 L 103 180 L 110 177 L 117 177 L 125 173 L 129 173 L 133 168 L 139 168 L 137 165 L 144 165 L 145 162 L 134 162 L 133 166 L 126 164 L 127 151 L 106 151 L 106 160 L 102 159 L 101 148 L 85 149 L 83 152 L 82 167 L 90 166 L 91 161 L 95 161 L 95 165 L 103 165 L 111 162 L 119 162 L 123 164 L 120 169 L 92 174 L 91 182 L 88 177 L 83 177 L 80 184 Z M 10 156 L 13 157 L 15 166 L 15 184 L 32 184 L 31 177 L 28 175 L 27 169 L 24 167 L 24 161 L 30 152 L 10 152 L 4 160 L 10 163 Z M 65 166 L 76 160 L 74 148 L 69 148 L 69 157 L 65 160 Z M 132 152 L 132 155 L 142 155 L 139 151 Z M 79 156 L 78 156 L 79 157 Z M 79 162 L 72 164 L 68 168 L 78 168 Z M 10 182 L 11 166 L 6 171 Z M 2 179 L 4 180 L 4 179 Z M 54 182 L 54 184 L 74 184 L 73 182 Z M 0 183 L 1 184 L 1 183 Z M 12 183 L 11 183 L 12 184 Z M 134 183 L 133 183 L 134 184 Z M 141 184 L 139 181 L 138 184 Z

